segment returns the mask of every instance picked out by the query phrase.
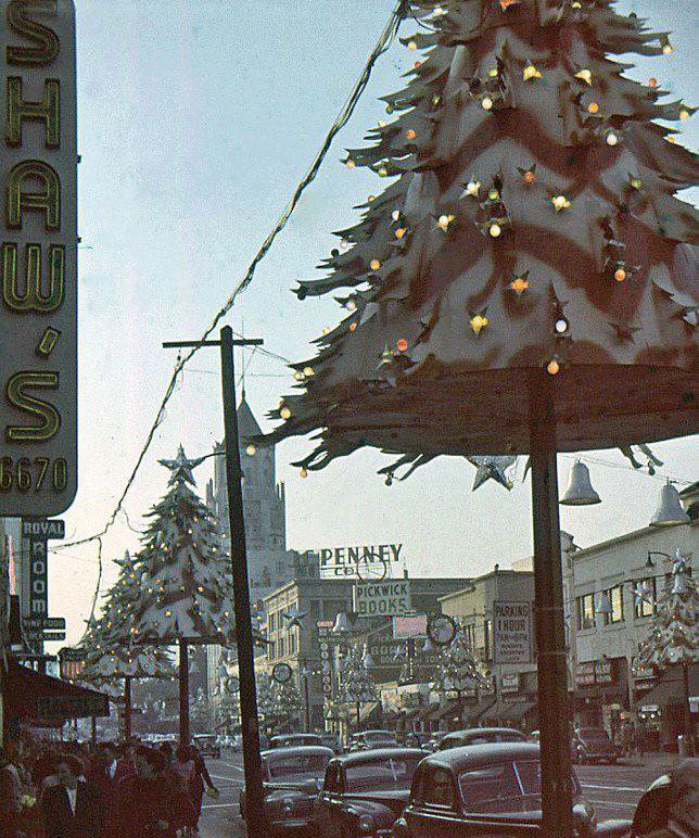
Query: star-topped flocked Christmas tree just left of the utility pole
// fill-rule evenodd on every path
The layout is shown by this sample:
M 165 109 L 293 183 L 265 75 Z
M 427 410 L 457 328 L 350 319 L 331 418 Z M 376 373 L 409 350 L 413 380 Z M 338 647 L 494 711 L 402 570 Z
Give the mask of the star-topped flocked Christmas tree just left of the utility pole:
M 231 642 L 231 566 L 216 520 L 191 488 L 200 462 L 188 460 L 181 445 L 176 459 L 161 460 L 170 478 L 167 494 L 150 512 L 138 555 L 134 635 L 139 643 Z

